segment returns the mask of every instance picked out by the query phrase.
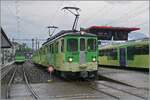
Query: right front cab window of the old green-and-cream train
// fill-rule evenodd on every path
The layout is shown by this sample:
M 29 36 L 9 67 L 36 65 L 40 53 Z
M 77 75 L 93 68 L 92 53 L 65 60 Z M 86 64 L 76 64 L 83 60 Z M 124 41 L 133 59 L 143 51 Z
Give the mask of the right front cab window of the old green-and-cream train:
M 87 50 L 88 51 L 96 51 L 96 39 L 88 39 L 87 40 Z

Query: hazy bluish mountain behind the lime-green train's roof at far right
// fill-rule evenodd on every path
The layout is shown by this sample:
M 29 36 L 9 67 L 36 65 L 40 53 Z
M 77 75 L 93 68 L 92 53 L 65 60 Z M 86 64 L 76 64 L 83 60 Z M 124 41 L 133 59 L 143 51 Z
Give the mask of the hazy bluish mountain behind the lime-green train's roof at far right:
M 148 36 L 146 36 L 144 33 L 139 33 L 139 32 L 131 32 L 128 35 L 128 40 L 137 40 L 143 38 L 148 38 Z

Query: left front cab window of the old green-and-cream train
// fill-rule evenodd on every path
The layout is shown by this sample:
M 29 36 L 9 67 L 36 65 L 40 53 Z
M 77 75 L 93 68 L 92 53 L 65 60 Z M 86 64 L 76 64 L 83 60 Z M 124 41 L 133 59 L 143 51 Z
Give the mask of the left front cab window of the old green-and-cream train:
M 69 51 L 69 52 L 78 51 L 78 40 L 77 39 L 68 39 L 67 40 L 67 51 Z

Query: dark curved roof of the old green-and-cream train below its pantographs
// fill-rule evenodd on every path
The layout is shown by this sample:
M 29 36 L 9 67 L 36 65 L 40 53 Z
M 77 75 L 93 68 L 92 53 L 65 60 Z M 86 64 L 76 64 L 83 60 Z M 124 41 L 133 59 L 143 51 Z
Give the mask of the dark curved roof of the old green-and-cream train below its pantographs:
M 42 45 L 45 45 L 46 43 L 48 43 L 49 41 L 52 41 L 54 39 L 60 38 L 62 36 L 66 36 L 66 35 L 73 35 L 73 36 L 80 36 L 81 32 L 80 31 L 76 31 L 76 30 L 62 30 L 59 33 L 57 33 L 56 35 L 52 36 L 51 38 L 48 38 L 46 42 L 44 42 Z M 91 37 L 96 37 L 95 34 L 91 34 L 91 33 L 84 33 L 84 36 L 91 36 Z

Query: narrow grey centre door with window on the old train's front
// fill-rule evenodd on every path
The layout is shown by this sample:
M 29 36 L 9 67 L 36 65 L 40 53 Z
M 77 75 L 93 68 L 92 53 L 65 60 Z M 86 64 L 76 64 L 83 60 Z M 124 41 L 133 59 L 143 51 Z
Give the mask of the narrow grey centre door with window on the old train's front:
M 85 63 L 85 39 L 80 38 L 80 64 Z

